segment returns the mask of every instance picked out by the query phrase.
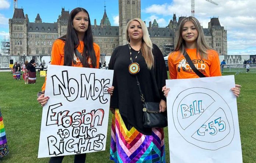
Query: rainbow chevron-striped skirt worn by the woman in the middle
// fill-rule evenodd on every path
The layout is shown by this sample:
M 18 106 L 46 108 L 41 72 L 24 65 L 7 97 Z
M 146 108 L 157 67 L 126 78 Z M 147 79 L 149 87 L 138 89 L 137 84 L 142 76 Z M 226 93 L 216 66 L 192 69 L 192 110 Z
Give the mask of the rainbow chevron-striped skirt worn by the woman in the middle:
M 110 159 L 116 163 L 165 163 L 163 128 L 143 135 L 134 127 L 127 130 L 118 109 L 112 118 Z

